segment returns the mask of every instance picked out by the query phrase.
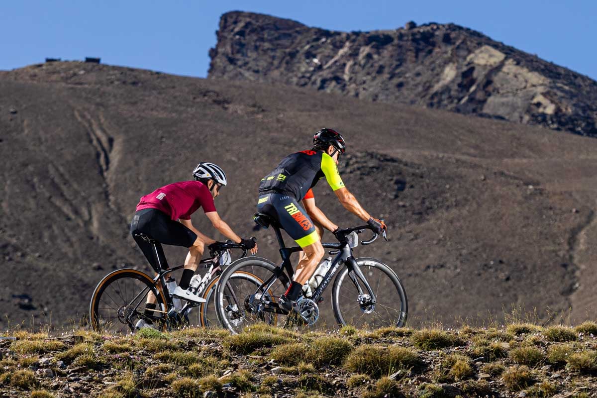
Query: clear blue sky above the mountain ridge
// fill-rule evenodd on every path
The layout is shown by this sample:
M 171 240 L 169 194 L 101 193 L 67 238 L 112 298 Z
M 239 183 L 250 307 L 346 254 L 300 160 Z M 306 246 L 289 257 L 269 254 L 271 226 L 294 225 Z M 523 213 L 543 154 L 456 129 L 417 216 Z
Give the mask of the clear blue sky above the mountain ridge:
M 374 5 L 372 5 L 374 4 Z M 253 11 L 333 30 L 453 22 L 597 79 L 597 1 L 18 0 L 0 8 L 0 70 L 45 57 L 207 76 L 221 14 Z

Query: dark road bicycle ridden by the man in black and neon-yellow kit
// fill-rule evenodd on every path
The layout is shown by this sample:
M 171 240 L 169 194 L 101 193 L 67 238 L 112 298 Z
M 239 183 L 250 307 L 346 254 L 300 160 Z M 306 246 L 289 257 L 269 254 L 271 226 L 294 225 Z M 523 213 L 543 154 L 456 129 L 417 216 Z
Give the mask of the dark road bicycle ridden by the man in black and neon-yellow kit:
M 281 226 L 269 215 L 257 213 L 254 220 L 261 227 L 273 227 L 282 263 L 276 266 L 262 257 L 241 258 L 223 271 L 216 288 L 216 311 L 225 328 L 238 333 L 257 322 L 272 326 L 296 325 L 295 314 L 300 316 L 298 320 L 303 325 L 314 325 L 319 319 L 318 304 L 322 301 L 322 294 L 334 276 L 331 307 L 338 325 L 365 329 L 404 326 L 408 313 L 407 295 L 396 273 L 376 258 L 353 257 L 352 249 L 359 244 L 358 234 L 365 230 L 373 232 L 370 226 L 340 230 L 336 233 L 337 243 L 322 243 L 324 248 L 334 249 L 330 254 L 336 257 L 331 260 L 330 268 L 312 295 L 305 297 L 303 291 L 297 301 L 297 311 L 288 314 L 277 301 L 293 279 L 290 255 L 301 251 L 301 248 L 284 245 Z M 361 244 L 369 245 L 377 237 L 378 234 L 373 232 L 373 236 Z M 387 241 L 385 231 L 383 237 Z M 238 272 L 253 274 L 263 283 L 255 286 L 234 279 L 233 275 Z

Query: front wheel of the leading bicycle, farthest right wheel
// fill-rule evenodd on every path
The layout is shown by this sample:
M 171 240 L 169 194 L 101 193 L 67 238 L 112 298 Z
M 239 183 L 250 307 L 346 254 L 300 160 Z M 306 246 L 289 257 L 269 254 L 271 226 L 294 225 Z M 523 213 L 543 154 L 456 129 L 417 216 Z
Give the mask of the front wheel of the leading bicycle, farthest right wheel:
M 338 324 L 364 329 L 404 326 L 407 295 L 396 273 L 375 258 L 356 258 L 356 263 L 371 290 L 356 273 L 346 278 L 349 275 L 347 267 L 338 274 L 332 291 L 332 308 Z M 363 294 L 359 294 L 357 284 Z M 375 296 L 376 303 L 371 302 L 371 295 Z

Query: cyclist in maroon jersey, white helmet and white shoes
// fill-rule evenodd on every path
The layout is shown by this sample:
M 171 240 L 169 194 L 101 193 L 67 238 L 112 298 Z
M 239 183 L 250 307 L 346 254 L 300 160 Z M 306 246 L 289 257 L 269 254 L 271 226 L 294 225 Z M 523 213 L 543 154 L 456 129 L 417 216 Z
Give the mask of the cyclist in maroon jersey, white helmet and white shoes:
M 219 166 L 201 162 L 193 170 L 193 181 L 180 181 L 158 188 L 143 196 L 137 205 L 131 223 L 131 234 L 153 269 L 159 268 L 156 256 L 159 256 L 162 268 L 168 269 L 164 250 L 159 243 L 189 248 L 180 284 L 173 292 L 176 297 L 193 303 L 205 303 L 204 298 L 188 290 L 190 280 L 203 255 L 204 246 L 216 242 L 193 227 L 190 215 L 200 207 L 222 235 L 241 243 L 246 249 L 250 249 L 252 254 L 257 252 L 256 243 L 252 239 L 242 239 L 236 235 L 216 211 L 214 199 L 220 195 L 220 188 L 226 184 L 226 174 Z M 153 253 L 152 245 L 137 236 L 139 233 L 159 242 L 156 243 L 158 253 Z M 147 305 L 151 312 L 151 309 L 155 308 L 155 297 L 149 295 L 147 303 L 154 303 L 153 306 Z

